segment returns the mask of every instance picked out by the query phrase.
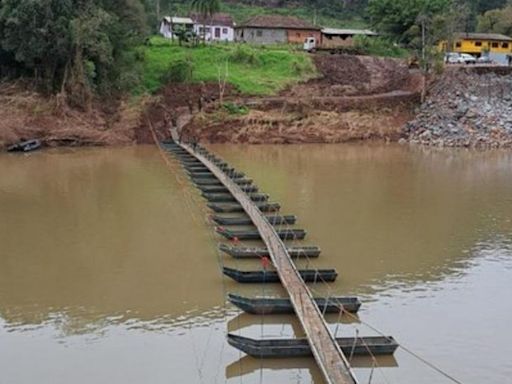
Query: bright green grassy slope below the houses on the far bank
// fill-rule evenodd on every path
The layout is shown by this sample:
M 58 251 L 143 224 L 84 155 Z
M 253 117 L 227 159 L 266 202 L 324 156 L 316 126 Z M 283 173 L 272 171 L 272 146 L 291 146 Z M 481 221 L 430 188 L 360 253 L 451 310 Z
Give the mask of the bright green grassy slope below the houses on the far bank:
M 153 37 L 143 49 L 144 90 L 149 92 L 157 91 L 169 79 L 173 63 L 186 63 L 191 69 L 186 81 L 191 82 L 217 82 L 219 70 L 224 74 L 227 63 L 227 82 L 250 95 L 272 95 L 316 76 L 310 56 L 289 46 L 221 43 L 188 48 Z

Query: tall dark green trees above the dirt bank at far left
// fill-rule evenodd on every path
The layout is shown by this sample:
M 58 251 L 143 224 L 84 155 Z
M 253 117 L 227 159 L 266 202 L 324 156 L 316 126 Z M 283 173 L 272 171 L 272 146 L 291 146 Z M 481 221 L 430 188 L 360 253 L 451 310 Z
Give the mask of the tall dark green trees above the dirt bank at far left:
M 146 33 L 139 0 L 2 0 L 2 75 L 24 75 L 76 104 L 130 86 Z M 131 52 L 131 53 L 130 53 Z

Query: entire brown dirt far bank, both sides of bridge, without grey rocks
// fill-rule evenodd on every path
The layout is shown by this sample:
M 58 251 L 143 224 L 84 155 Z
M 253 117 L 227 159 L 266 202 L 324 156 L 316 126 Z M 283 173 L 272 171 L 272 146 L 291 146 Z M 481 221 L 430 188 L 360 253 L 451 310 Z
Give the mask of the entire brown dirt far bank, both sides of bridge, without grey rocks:
M 167 138 L 205 142 L 308 143 L 398 140 L 419 102 L 421 77 L 403 61 L 316 55 L 320 77 L 274 97 L 241 97 L 218 84 L 169 84 L 158 95 L 97 101 L 88 111 L 66 107 L 22 84 L 0 84 L 0 147 L 39 138 L 48 146 L 130 145 Z M 236 109 L 236 108 L 235 108 Z

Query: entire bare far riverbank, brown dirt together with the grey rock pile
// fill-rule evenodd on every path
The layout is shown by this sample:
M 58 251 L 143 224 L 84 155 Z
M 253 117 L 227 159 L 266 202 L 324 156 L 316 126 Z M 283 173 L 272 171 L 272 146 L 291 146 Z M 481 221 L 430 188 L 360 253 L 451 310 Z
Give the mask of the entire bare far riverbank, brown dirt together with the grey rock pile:
M 423 78 L 403 60 L 320 54 L 309 59 L 317 70 L 314 78 L 290 78 L 285 89 L 271 96 L 247 96 L 230 83 L 224 87 L 196 79 L 170 83 L 152 96 L 96 102 L 89 110 L 77 110 L 66 107 L 59 96 L 3 84 L 0 147 L 28 138 L 47 146 L 152 143 L 153 132 L 166 138 L 173 125 L 184 139 L 209 143 L 380 140 L 512 146 L 510 68 L 448 68 L 431 79 L 421 105 Z M 246 84 L 257 85 L 258 77 Z

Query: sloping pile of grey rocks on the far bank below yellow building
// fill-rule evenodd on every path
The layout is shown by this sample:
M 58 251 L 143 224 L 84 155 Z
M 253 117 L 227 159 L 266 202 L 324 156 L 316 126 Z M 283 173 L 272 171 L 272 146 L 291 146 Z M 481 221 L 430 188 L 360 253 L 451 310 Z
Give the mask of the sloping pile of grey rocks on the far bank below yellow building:
M 512 147 L 512 68 L 448 70 L 405 136 L 412 144 L 440 147 Z

